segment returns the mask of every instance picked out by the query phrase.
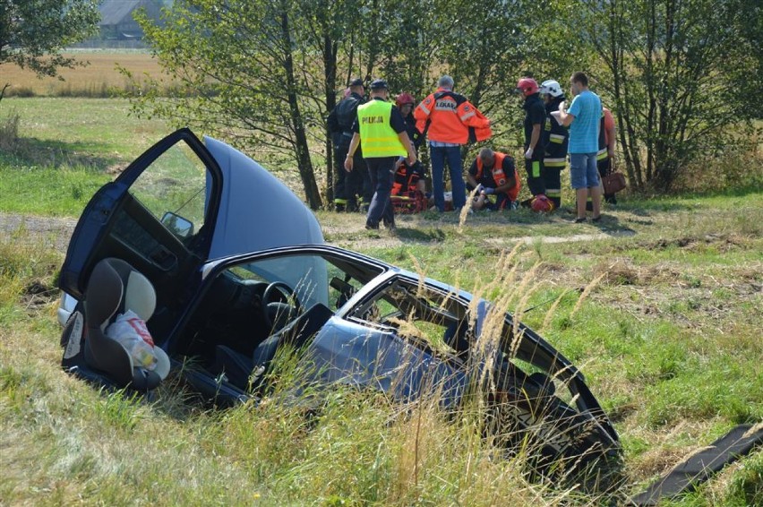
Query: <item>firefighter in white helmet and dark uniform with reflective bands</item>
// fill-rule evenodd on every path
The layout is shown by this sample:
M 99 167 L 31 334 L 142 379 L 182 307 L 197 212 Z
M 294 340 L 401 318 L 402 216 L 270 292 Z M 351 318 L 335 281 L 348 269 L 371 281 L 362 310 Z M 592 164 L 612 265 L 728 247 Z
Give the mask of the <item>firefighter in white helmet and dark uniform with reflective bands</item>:
M 564 101 L 564 91 L 559 82 L 550 79 L 541 83 L 539 92 L 546 112 L 543 132 L 545 194 L 553 202 L 554 209 L 558 210 L 562 205 L 562 170 L 567 167 L 570 131 L 551 113 L 559 110 L 559 105 Z

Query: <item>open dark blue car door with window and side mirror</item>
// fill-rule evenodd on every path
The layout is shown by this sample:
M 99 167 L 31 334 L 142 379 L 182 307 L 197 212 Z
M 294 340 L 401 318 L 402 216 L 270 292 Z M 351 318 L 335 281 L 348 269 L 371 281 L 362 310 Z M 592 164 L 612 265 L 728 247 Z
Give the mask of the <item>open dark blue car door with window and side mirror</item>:
M 81 300 L 93 267 L 122 259 L 160 288 L 156 320 L 171 326 L 193 271 L 209 256 L 222 188 L 219 164 L 190 130 L 167 135 L 85 207 L 60 288 Z

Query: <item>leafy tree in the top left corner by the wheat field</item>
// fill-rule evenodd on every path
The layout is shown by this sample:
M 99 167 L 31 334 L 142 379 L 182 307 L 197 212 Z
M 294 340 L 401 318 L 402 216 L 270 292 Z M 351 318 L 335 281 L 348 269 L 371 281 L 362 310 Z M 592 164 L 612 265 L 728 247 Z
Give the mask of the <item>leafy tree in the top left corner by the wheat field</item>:
M 80 65 L 61 51 L 98 32 L 98 4 L 98 0 L 0 0 L 0 64 L 17 64 L 39 77 L 55 77 L 62 67 Z M 0 91 L 0 99 L 8 86 Z

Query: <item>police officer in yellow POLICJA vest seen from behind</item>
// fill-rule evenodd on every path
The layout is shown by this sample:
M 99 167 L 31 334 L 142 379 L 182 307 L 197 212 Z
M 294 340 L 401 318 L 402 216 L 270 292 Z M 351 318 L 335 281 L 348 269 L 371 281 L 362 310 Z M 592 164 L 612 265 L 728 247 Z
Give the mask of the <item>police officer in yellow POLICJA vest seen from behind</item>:
M 383 79 L 371 83 L 371 100 L 357 108 L 352 130 L 345 169 L 349 172 L 354 170 L 354 155 L 360 144 L 375 190 L 365 218 L 365 228 L 378 229 L 379 222 L 383 220 L 384 226 L 393 230 L 395 212 L 390 202 L 390 191 L 395 162 L 400 157 L 407 157 L 408 164 L 413 165 L 416 149 L 408 139 L 406 123 L 399 109 L 387 101 L 387 82 Z

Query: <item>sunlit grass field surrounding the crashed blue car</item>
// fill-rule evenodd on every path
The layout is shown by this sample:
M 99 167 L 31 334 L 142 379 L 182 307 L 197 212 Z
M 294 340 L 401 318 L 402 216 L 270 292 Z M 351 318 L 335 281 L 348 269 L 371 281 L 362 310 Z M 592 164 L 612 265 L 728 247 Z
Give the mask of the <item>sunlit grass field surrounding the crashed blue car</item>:
M 92 189 L 167 129 L 122 114 L 119 100 L 2 107 L 20 116 L 22 136 L 0 153 L 6 213 L 77 216 Z M 103 116 L 112 119 L 95 119 Z M 624 195 L 600 227 L 570 225 L 564 208 L 549 217 L 477 213 L 463 224 L 424 213 L 400 217 L 397 236 L 365 231 L 357 215 L 318 218 L 332 244 L 476 292 L 496 276 L 501 253 L 522 242 L 515 279 L 532 271 L 536 289 L 509 309 L 540 305 L 524 322 L 579 366 L 613 418 L 622 500 L 733 425 L 763 421 L 761 199 L 759 191 Z M 0 235 L 0 504 L 606 502 L 530 480 L 521 456 L 497 459 L 468 417 L 454 422 L 433 408 L 396 417 L 383 400 L 338 391 L 308 427 L 277 398 L 209 411 L 174 384 L 152 404 L 94 391 L 57 366 L 63 253 L 27 228 Z M 763 504 L 763 451 L 665 504 Z

